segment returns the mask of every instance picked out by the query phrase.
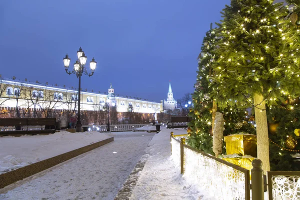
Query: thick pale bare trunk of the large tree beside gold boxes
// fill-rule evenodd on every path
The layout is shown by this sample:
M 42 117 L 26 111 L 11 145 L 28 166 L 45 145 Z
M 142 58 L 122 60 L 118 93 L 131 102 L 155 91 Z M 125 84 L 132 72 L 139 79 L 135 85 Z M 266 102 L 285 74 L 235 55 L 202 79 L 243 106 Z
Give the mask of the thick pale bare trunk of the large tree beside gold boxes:
M 254 112 L 256 122 L 256 138 L 257 138 L 257 157 L 262 161 L 263 173 L 270 170 L 269 161 L 269 143 L 267 132 L 267 119 L 265 111 L 265 101 L 261 94 L 254 93 Z

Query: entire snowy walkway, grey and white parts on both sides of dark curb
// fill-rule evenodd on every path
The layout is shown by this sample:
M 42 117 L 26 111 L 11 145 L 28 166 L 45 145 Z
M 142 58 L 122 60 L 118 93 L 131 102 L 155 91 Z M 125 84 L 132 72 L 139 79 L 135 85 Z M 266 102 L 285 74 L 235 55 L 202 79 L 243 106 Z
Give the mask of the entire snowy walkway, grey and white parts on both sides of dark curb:
M 145 154 L 130 199 L 213 199 L 180 174 L 179 163 L 170 156 L 170 131 L 186 133 L 165 127 L 157 134 L 109 133 L 113 142 L 0 189 L 0 199 L 113 199 Z

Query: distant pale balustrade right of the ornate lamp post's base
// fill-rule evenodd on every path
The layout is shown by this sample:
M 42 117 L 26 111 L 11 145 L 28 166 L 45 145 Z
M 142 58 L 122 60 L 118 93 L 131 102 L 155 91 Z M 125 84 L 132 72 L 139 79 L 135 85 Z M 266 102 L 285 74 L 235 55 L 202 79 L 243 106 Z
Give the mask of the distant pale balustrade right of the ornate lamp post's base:
M 134 128 L 139 128 L 147 124 L 110 124 L 110 131 L 131 131 Z M 107 125 L 82 125 L 82 127 L 90 128 L 89 130 L 96 130 L 98 132 L 105 132 L 107 130 Z

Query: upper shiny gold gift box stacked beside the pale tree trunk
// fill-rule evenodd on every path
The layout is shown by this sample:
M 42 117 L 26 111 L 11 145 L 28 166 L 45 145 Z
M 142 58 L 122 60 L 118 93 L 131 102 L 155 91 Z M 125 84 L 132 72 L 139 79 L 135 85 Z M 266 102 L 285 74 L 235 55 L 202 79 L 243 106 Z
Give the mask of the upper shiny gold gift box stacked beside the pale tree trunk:
M 231 134 L 224 136 L 226 154 L 251 155 L 257 157 L 257 142 L 254 134 Z

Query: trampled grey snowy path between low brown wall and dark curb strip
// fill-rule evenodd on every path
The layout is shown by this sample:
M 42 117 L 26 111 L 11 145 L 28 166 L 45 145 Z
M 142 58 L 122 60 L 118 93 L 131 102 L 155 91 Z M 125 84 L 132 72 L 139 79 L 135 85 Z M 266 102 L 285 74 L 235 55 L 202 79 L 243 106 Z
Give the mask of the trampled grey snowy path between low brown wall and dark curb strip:
M 0 194 L 0 199 L 113 199 L 154 133 L 110 133 L 114 141 Z

